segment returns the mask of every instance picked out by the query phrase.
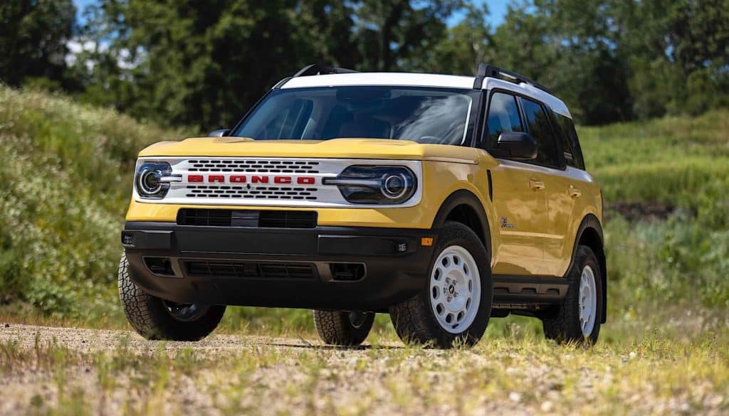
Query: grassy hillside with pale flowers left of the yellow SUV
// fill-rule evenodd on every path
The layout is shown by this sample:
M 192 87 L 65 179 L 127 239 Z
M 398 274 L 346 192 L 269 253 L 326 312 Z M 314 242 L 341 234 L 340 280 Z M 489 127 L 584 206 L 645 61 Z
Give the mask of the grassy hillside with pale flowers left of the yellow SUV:
M 182 135 L 0 87 L 0 305 L 24 302 L 57 316 L 116 310 L 136 153 Z

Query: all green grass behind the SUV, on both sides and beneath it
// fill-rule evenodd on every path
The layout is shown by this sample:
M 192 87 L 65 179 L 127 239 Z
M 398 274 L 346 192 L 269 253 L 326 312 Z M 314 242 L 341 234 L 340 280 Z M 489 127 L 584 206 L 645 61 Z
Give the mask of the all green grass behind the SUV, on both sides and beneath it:
M 667 221 L 625 221 L 613 213 L 605 224 L 605 338 L 669 328 L 682 311 L 729 310 L 727 131 L 729 111 L 579 129 L 608 207 L 679 208 Z M 115 281 L 136 152 L 195 133 L 0 87 L 0 316 L 126 328 Z M 389 331 L 386 316 L 377 328 Z M 230 308 L 221 330 L 295 334 L 313 325 L 308 311 L 246 307 Z M 489 331 L 540 329 L 507 318 L 494 319 Z

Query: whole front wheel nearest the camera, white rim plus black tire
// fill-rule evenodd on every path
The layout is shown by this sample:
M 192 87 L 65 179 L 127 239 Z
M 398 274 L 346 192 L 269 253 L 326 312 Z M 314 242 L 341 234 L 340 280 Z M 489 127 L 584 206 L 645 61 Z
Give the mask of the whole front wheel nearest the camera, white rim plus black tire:
M 486 331 L 493 297 L 488 253 L 475 232 L 447 221 L 423 291 L 390 308 L 401 340 L 451 348 L 475 345 Z

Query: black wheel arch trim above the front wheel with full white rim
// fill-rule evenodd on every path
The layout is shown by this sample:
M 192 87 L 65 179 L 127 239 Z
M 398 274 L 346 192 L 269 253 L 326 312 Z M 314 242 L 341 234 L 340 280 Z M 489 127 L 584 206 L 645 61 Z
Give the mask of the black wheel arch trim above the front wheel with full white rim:
M 445 198 L 435 214 L 432 228 L 443 227 L 445 221 L 458 221 L 472 229 L 491 259 L 491 228 L 483 204 L 473 192 L 459 189 Z

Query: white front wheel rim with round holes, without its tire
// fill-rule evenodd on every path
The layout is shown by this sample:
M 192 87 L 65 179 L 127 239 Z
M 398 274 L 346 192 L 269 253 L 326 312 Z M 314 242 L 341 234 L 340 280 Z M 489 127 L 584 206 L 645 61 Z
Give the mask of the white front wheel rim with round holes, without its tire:
M 448 246 L 440 252 L 430 273 L 429 297 L 436 321 L 445 331 L 460 334 L 471 326 L 480 306 L 481 278 L 468 250 Z

